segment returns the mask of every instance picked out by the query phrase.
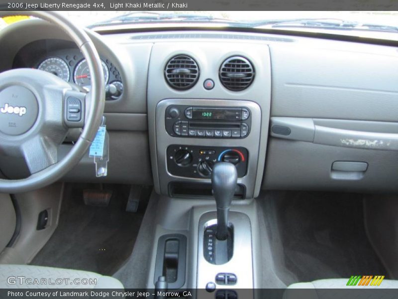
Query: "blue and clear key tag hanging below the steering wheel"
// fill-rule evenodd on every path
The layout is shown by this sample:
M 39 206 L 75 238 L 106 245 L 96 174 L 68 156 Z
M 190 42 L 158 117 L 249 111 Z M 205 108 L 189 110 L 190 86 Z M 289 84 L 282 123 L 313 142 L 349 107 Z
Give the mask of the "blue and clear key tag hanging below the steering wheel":
M 109 161 L 109 134 L 106 132 L 105 117 L 102 117 L 96 138 L 90 146 L 89 157 L 94 158 L 96 176 L 106 176 Z

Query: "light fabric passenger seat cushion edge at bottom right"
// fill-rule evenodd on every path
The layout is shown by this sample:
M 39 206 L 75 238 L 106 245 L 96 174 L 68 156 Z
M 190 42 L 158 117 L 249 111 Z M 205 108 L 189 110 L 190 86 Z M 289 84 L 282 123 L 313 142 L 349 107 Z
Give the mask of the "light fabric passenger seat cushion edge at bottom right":
M 284 299 L 397 298 L 398 281 L 383 280 L 380 286 L 347 286 L 347 279 L 322 279 L 290 285 Z M 386 290 L 389 289 L 389 290 Z M 368 291 L 369 290 L 369 291 Z M 379 291 L 377 291 L 379 290 Z

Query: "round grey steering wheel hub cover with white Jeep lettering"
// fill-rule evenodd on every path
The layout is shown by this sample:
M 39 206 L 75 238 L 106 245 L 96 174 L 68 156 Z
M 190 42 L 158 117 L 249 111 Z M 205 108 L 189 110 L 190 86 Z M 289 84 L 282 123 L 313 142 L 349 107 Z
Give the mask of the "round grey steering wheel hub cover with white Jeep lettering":
M 34 125 L 39 113 L 35 95 L 26 87 L 9 86 L 0 92 L 0 131 L 21 135 Z

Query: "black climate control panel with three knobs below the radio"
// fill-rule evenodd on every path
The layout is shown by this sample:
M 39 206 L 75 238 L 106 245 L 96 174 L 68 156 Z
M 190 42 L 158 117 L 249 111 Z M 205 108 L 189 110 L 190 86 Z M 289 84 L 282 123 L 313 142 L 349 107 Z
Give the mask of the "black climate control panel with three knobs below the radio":
M 235 165 L 238 177 L 247 172 L 248 151 L 242 147 L 202 147 L 171 145 L 167 148 L 167 169 L 176 176 L 210 178 L 215 163 Z

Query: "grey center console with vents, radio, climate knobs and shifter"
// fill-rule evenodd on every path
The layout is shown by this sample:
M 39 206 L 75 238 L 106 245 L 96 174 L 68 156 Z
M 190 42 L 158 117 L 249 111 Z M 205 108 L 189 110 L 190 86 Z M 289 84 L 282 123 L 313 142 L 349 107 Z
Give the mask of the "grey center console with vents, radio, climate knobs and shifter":
M 221 82 L 222 70 L 228 70 L 224 61 L 235 63 L 234 55 L 253 66 L 253 83 L 243 90 Z M 170 61 L 184 67 L 169 69 Z M 187 73 L 195 80 L 179 79 Z M 227 74 L 225 80 L 234 76 Z M 187 82 L 194 83 L 185 88 Z M 261 286 L 262 273 L 253 198 L 260 192 L 268 138 L 268 46 L 231 42 L 226 48 L 215 40 L 154 43 L 147 91 L 158 196 L 147 287 L 197 289 L 197 298 L 253 297 L 247 291 Z

